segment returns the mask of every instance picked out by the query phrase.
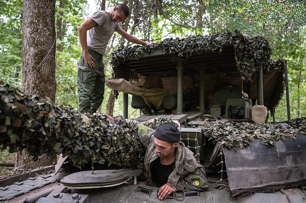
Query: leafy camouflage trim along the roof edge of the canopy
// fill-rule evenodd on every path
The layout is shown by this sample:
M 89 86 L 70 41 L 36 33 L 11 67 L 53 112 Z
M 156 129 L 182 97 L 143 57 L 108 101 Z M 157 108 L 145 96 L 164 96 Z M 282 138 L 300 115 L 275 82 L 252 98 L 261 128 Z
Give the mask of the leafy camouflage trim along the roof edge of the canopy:
M 264 37 L 249 37 L 240 31 L 216 32 L 205 36 L 190 36 L 183 39 L 165 39 L 152 46 L 133 46 L 119 48 L 113 52 L 111 65 L 113 78 L 116 78 L 116 66 L 119 61 L 137 60 L 153 51 L 160 50 L 166 54 L 177 54 L 188 58 L 191 55 L 222 52 L 225 47 L 232 47 L 235 52 L 237 68 L 241 78 L 251 81 L 252 75 L 263 68 L 266 73 L 270 68 L 284 68 L 284 62 L 270 60 L 271 48 Z M 280 59 L 284 61 L 283 59 Z M 275 63 L 277 63 L 277 66 Z

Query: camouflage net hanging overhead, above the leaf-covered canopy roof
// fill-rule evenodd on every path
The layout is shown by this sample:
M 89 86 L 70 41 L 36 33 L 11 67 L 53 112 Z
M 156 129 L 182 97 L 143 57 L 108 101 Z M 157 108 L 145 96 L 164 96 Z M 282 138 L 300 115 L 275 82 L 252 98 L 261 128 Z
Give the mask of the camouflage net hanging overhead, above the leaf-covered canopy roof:
M 143 0 L 131 5 L 134 22 L 150 40 L 152 22 L 211 32 L 242 32 L 282 39 L 306 25 L 304 0 Z M 154 40 L 154 39 L 152 39 Z

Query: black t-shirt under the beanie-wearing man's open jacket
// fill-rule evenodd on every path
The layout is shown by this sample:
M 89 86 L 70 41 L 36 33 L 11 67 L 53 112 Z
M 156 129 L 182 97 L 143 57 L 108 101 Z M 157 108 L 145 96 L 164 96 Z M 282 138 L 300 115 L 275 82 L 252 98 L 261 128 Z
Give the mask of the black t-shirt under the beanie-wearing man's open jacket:
M 153 161 L 150 167 L 151 180 L 157 187 L 161 187 L 168 182 L 168 177 L 173 171 L 173 166 L 174 162 L 170 165 L 162 165 L 159 158 Z

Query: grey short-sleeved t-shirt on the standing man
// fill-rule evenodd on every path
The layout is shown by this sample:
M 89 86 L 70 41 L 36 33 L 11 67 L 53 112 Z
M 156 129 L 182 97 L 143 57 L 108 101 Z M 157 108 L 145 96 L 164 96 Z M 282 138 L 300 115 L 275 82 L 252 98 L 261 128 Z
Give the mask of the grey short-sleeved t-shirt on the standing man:
M 112 21 L 107 11 L 97 11 L 89 18 L 98 25 L 89 29 L 89 33 L 87 33 L 87 46 L 99 54 L 104 55 L 109 40 L 120 26 L 118 23 Z

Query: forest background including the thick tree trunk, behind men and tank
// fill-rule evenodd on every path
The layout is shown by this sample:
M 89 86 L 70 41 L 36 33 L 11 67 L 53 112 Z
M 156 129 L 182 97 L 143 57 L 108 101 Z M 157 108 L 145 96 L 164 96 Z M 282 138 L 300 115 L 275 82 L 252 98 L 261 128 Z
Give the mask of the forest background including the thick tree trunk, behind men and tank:
M 77 27 L 96 10 L 110 11 L 117 3 L 115 0 L 0 0 L 0 81 L 27 94 L 47 95 L 57 104 L 77 109 L 77 61 L 81 53 Z M 124 3 L 130 7 L 131 15 L 121 26 L 153 43 L 170 37 L 231 30 L 240 30 L 251 37 L 264 36 L 272 48 L 271 59 L 287 60 L 291 118 L 306 116 L 305 0 L 129 0 Z M 29 35 L 29 30 L 34 34 Z M 133 45 L 115 33 L 103 57 L 106 78 L 112 74 L 112 52 L 120 46 Z M 108 113 L 115 102 L 113 115 L 122 115 L 122 93 L 115 100 L 111 92 L 106 87 L 100 112 Z M 287 119 L 286 94 L 283 95 L 275 110 L 276 121 Z M 131 118 L 139 114 L 139 110 L 128 110 Z M 0 161 L 7 156 L 10 154 L 1 153 Z M 12 156 L 10 159 L 14 160 Z

